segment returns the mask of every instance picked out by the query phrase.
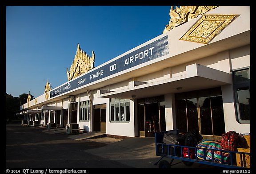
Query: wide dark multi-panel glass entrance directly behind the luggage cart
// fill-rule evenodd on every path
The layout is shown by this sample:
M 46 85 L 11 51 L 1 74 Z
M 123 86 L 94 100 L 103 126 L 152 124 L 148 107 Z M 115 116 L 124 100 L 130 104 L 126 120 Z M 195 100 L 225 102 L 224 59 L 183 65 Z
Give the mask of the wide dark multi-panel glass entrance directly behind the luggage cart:
M 179 93 L 175 97 L 180 133 L 196 130 L 204 139 L 220 140 L 225 133 L 220 88 Z

